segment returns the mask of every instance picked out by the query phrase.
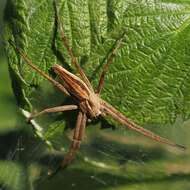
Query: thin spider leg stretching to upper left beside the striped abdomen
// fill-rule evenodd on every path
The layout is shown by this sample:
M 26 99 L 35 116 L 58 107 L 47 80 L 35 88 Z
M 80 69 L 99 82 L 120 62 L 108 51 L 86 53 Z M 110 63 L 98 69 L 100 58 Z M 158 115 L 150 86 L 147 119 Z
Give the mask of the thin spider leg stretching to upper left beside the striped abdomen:
M 15 48 L 15 50 L 20 54 L 20 56 L 22 57 L 22 59 L 36 72 L 38 72 L 41 76 L 43 76 L 44 78 L 46 78 L 48 81 L 50 81 L 54 86 L 56 86 L 60 91 L 62 91 L 65 95 L 70 96 L 69 92 L 65 89 L 65 87 L 57 82 L 56 80 L 54 80 L 53 78 L 51 78 L 49 75 L 47 75 L 46 73 L 44 73 L 42 70 L 40 70 L 38 67 L 36 67 L 36 65 L 34 65 L 32 63 L 32 61 L 29 59 L 29 57 L 22 51 L 20 50 L 12 41 L 9 41 L 9 43 Z

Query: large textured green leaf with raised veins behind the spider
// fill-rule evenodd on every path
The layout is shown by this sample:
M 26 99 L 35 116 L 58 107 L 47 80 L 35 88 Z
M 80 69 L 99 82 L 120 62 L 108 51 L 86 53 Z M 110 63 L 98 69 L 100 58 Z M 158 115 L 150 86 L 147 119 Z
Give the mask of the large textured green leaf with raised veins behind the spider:
M 69 43 L 94 86 L 107 55 L 125 34 L 106 75 L 105 100 L 141 124 L 174 122 L 178 115 L 190 118 L 188 1 L 57 2 Z M 56 28 L 53 0 L 10 0 L 6 14 L 7 40 L 12 39 L 34 64 L 50 73 L 59 61 L 75 73 Z M 9 45 L 7 55 L 18 104 L 29 109 L 39 101 L 34 94 L 43 91 L 44 79 Z

